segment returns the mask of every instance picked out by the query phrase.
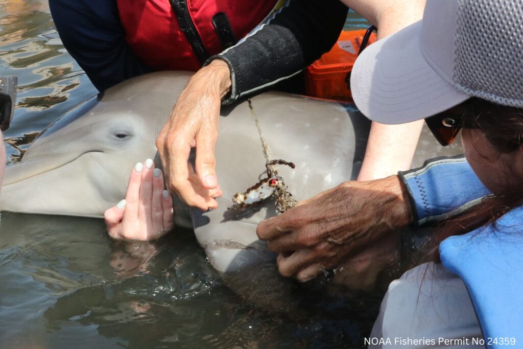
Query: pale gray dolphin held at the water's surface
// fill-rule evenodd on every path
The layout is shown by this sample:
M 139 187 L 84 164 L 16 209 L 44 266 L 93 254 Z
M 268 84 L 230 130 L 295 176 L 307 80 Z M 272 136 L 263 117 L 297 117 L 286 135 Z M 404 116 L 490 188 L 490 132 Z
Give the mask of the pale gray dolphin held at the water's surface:
M 103 217 L 124 198 L 130 171 L 156 155 L 155 139 L 191 73 L 156 72 L 108 89 L 45 129 L 18 164 L 6 169 L 4 211 Z M 355 179 L 369 121 L 354 106 L 284 93 L 252 98 L 272 159 L 297 200 Z M 274 200 L 230 210 L 231 198 L 265 176 L 265 155 L 247 102 L 223 107 L 215 147 L 223 196 L 202 212 L 175 198 L 178 225 L 195 230 L 211 264 L 235 272 L 274 255 L 256 236 L 259 221 L 276 215 Z M 441 153 L 437 154 L 441 155 Z

